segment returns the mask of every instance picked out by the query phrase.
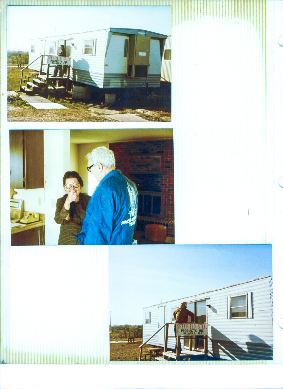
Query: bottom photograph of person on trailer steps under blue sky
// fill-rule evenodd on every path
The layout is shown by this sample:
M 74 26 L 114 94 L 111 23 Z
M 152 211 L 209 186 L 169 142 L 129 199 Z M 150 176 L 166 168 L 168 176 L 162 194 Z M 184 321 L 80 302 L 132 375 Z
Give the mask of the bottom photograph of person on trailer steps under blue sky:
M 272 246 L 110 246 L 109 309 L 110 361 L 271 361 Z

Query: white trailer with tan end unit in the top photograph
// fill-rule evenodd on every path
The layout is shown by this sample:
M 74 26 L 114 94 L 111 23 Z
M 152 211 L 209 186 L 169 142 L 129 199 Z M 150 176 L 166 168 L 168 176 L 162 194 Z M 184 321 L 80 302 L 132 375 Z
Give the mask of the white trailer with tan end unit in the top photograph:
M 159 87 L 167 35 L 130 28 L 107 28 L 30 40 L 29 63 L 40 55 L 71 57 L 74 83 L 97 88 Z M 44 57 L 44 63 L 46 63 Z M 31 68 L 39 71 L 41 58 Z M 47 65 L 42 72 L 47 71 Z

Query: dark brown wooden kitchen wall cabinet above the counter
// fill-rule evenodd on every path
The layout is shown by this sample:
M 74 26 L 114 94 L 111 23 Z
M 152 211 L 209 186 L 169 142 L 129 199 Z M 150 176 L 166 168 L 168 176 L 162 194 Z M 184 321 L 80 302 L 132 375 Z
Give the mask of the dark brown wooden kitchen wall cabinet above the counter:
M 43 130 L 10 130 L 10 187 L 44 187 Z

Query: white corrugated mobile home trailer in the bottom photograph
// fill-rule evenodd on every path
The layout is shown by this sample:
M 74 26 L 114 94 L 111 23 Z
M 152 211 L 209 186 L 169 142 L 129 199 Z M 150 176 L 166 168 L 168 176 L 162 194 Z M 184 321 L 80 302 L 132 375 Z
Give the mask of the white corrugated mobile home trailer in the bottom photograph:
M 208 355 L 229 360 L 272 360 L 272 276 L 223 287 L 213 291 L 166 301 L 143 308 L 143 342 L 164 323 L 173 322 L 173 312 L 187 302 L 196 323 L 208 324 Z M 175 348 L 173 325 L 169 325 L 168 348 Z M 164 347 L 164 328 L 148 343 Z M 182 349 L 189 341 L 181 340 Z M 193 341 L 202 350 L 203 340 Z

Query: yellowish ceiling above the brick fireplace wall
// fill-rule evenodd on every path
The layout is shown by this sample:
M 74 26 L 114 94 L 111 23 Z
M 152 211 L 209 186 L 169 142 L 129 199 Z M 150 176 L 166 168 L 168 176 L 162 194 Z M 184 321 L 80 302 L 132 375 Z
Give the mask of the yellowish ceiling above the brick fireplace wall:
M 154 139 L 173 139 L 173 128 L 70 130 L 70 142 L 78 144 Z

